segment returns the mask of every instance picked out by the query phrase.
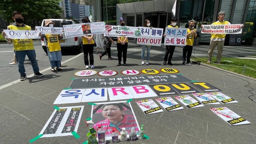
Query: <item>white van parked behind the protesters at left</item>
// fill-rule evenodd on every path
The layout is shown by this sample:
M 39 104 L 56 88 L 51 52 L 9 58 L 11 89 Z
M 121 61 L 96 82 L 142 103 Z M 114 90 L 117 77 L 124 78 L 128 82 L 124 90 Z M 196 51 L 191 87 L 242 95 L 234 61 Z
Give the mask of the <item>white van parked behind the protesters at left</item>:
M 63 27 L 63 25 L 76 24 L 73 20 L 64 20 L 64 19 L 50 19 L 54 23 L 53 27 Z M 45 20 L 42 21 L 41 26 L 45 25 Z M 63 34 L 63 39 L 59 40 L 61 44 L 61 49 L 66 50 L 69 49 L 71 51 L 75 51 L 80 53 L 81 49 L 81 37 L 71 37 L 66 38 L 65 34 Z M 44 39 L 41 39 L 41 44 L 44 49 L 44 52 L 47 53 L 47 48 L 45 46 Z

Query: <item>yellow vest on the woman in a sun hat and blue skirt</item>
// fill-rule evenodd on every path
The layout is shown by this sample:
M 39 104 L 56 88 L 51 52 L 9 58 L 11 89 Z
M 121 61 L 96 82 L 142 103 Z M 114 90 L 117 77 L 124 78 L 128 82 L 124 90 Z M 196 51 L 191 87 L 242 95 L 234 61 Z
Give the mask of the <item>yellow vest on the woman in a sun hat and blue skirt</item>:
M 61 45 L 58 40 L 58 35 L 46 34 L 45 37 L 47 38 L 47 46 L 49 52 L 55 52 L 61 50 Z

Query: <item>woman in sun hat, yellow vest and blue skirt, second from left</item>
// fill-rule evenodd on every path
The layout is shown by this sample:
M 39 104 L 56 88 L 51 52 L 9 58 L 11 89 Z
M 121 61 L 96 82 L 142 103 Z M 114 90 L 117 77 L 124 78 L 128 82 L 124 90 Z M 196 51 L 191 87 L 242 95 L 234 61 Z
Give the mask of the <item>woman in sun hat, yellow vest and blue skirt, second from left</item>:
M 55 23 L 52 22 L 52 20 L 45 20 L 44 26 L 53 27 Z M 64 32 L 61 33 L 61 35 L 53 35 L 53 34 L 45 34 L 42 35 L 42 38 L 44 38 L 46 45 L 47 45 L 47 53 L 48 58 L 51 65 L 51 71 L 55 72 L 55 67 L 58 71 L 61 70 L 61 45 L 59 39 L 62 39 L 62 35 Z

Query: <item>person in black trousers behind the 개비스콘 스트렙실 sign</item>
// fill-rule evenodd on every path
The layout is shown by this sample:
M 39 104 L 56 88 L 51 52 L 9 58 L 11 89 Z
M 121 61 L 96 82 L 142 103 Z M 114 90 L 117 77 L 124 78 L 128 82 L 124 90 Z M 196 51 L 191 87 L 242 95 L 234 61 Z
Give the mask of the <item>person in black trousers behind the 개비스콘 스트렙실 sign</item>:
M 176 26 L 176 24 L 177 24 L 177 18 L 172 17 L 171 24 L 167 27 L 178 28 L 178 26 Z M 166 37 L 166 34 L 164 34 L 163 36 Z M 172 56 L 173 56 L 174 50 L 175 50 L 175 46 L 166 45 L 166 53 L 163 58 L 163 65 L 166 65 L 166 64 L 169 64 L 171 66 L 173 65 L 171 61 L 172 61 Z M 168 56 L 169 56 L 169 58 L 168 58 Z

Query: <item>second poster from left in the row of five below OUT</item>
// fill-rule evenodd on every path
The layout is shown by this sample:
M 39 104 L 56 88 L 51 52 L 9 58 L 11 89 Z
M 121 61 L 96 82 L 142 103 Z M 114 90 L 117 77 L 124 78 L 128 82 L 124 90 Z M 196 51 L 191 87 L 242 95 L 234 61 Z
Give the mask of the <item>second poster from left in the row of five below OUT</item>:
M 174 111 L 179 109 L 184 109 L 180 104 L 174 101 L 171 97 L 166 98 L 156 98 L 157 102 L 164 108 L 166 111 Z

